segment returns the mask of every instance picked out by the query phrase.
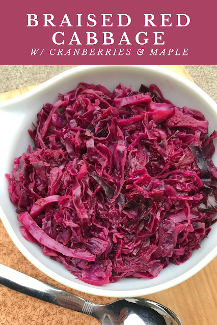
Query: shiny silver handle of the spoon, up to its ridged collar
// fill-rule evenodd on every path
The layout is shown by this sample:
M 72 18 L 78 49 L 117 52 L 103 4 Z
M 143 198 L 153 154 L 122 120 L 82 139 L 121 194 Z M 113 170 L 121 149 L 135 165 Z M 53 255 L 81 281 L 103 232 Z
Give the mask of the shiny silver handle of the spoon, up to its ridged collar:
M 90 315 L 94 303 L 0 264 L 0 284 L 28 296 Z

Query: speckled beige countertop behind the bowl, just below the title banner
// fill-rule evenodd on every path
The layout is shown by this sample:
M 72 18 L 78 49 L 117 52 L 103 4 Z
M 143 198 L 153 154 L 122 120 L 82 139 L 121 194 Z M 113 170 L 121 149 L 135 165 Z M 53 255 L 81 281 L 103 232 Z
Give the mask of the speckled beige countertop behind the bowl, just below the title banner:
M 76 66 L 0 66 L 0 93 L 44 82 Z M 185 66 L 194 82 L 217 102 L 217 66 Z

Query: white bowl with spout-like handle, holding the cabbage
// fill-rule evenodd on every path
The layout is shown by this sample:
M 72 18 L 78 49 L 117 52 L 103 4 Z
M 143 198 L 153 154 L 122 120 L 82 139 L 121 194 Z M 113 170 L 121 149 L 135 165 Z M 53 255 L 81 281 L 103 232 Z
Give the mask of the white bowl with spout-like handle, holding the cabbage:
M 217 105 L 193 82 L 157 66 L 80 66 L 44 82 L 30 92 L 0 103 L 0 217 L 14 244 L 39 270 L 56 281 L 80 290 L 105 297 L 135 297 L 172 287 L 196 274 L 217 255 L 217 223 L 212 226 L 209 238 L 191 258 L 181 265 L 170 264 L 157 278 L 125 278 L 102 287 L 77 280 L 64 266 L 44 256 L 38 245 L 26 241 L 20 231 L 15 206 L 8 195 L 5 173 L 13 168 L 13 159 L 21 156 L 32 143 L 28 133 L 36 114 L 43 103 L 55 103 L 58 93 L 65 94 L 78 82 L 102 84 L 112 91 L 120 82 L 138 91 L 141 83 L 155 83 L 165 98 L 179 107 L 187 106 L 200 110 L 209 121 L 209 133 L 217 130 Z M 217 153 L 213 156 L 217 163 Z

